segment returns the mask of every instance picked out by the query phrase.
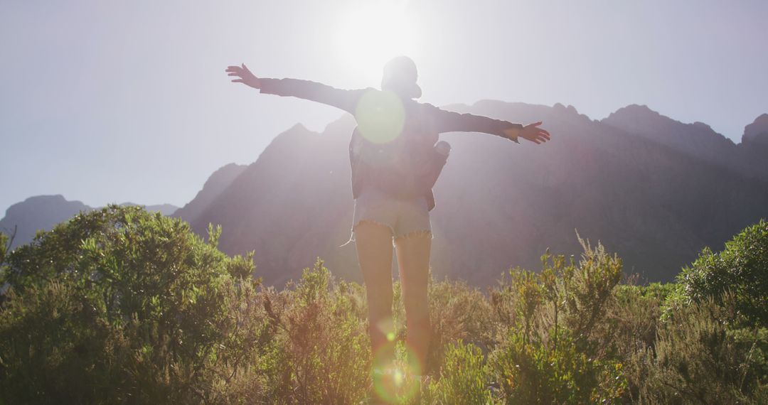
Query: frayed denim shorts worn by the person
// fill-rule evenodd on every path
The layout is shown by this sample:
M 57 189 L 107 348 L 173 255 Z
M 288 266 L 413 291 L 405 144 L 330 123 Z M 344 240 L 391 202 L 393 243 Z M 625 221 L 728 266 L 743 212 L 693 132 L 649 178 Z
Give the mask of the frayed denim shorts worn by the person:
M 387 226 L 395 239 L 418 233 L 432 235 L 426 196 L 402 199 L 368 187 L 355 200 L 353 235 L 360 222 Z

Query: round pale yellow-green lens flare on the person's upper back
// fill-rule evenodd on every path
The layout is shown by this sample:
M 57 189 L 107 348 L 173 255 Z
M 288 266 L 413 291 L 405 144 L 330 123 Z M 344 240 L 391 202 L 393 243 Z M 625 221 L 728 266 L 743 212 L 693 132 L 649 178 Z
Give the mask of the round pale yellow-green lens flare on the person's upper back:
M 360 97 L 355 119 L 362 137 L 372 143 L 389 143 L 400 136 L 406 109 L 392 91 L 371 90 Z

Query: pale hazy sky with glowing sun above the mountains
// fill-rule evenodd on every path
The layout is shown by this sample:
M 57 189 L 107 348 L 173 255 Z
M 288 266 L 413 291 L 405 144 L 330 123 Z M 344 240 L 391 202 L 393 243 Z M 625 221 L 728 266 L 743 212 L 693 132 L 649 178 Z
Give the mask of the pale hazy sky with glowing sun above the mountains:
M 760 0 L 0 0 L 0 217 L 39 194 L 183 206 L 294 123 L 341 116 L 230 84 L 241 62 L 376 87 L 409 54 L 432 104 L 647 104 L 738 142 L 768 112 L 766 21 Z

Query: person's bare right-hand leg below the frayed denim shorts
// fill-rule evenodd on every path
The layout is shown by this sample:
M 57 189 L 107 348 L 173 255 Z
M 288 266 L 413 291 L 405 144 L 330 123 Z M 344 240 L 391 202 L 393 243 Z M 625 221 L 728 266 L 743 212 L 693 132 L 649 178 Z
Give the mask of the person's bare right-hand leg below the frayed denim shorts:
M 417 374 L 422 374 L 425 371 L 431 332 L 427 282 L 432 234 L 429 232 L 412 232 L 396 239 L 395 247 L 397 248 L 397 262 L 402 281 L 403 305 L 406 308 L 408 327 L 406 344 L 415 354 L 415 359 L 410 361 L 412 370 Z

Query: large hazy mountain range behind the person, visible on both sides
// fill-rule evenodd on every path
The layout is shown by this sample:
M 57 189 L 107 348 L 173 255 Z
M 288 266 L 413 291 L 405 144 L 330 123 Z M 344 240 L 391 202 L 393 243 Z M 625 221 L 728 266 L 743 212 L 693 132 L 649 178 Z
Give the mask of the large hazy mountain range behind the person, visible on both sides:
M 704 124 L 639 106 L 602 121 L 560 104 L 452 108 L 544 120 L 553 139 L 536 146 L 481 133 L 442 135 L 453 150 L 435 186 L 437 276 L 487 285 L 511 266 L 537 269 L 548 247 L 578 254 L 578 231 L 621 255 L 627 272 L 670 280 L 704 246 L 720 249 L 768 216 L 766 177 L 754 165 L 734 166 L 741 145 Z M 257 273 L 268 284 L 297 278 L 316 256 L 336 274 L 360 280 L 354 246 L 339 247 L 352 226 L 346 153 L 353 127 L 351 117 L 323 133 L 293 127 L 199 215 L 177 215 L 203 235 L 209 222 L 221 224 L 220 247 L 230 254 L 255 250 Z

